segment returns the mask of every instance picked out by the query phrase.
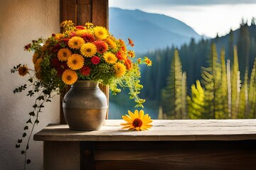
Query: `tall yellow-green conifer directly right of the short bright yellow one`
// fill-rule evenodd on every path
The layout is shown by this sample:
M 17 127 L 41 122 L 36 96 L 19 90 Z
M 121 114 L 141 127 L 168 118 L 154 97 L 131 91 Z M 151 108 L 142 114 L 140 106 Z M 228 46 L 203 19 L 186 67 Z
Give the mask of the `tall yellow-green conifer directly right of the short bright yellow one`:
M 221 103 L 221 66 L 218 62 L 216 45 L 211 45 L 209 67 L 202 67 L 202 82 L 205 87 L 205 107 L 207 118 L 223 118 L 221 111 L 223 105 Z

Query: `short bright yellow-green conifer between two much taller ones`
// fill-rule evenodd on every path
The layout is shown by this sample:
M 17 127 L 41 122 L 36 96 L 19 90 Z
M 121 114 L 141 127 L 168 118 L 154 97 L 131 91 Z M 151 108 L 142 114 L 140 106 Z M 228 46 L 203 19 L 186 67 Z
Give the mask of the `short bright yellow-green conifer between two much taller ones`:
M 188 118 L 200 119 L 205 113 L 204 106 L 204 90 L 199 80 L 196 80 L 196 85 L 191 86 L 191 97 L 188 96 Z

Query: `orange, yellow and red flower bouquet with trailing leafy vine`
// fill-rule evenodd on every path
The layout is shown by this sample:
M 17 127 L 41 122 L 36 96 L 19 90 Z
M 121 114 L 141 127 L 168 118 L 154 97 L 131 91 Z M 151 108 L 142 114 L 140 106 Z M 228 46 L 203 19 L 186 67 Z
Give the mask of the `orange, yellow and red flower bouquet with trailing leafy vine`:
M 134 46 L 134 42 L 114 38 L 108 30 L 102 26 L 93 26 L 85 23 L 85 26 L 75 26 L 72 21 L 63 21 L 60 26 L 62 33 L 51 35 L 49 38 L 38 38 L 24 47 L 33 52 L 33 69 L 28 69 L 26 64 L 18 64 L 11 72 L 19 75 L 28 75 L 26 84 L 14 89 L 14 93 L 28 88 L 27 96 L 35 96 L 36 102 L 33 110 L 28 113 L 30 118 L 24 127 L 23 137 L 27 136 L 26 130 L 31 124 L 31 137 L 33 128 L 39 123 L 38 114 L 56 94 L 60 94 L 65 86 L 75 84 L 78 80 L 97 81 L 100 84 L 110 86 L 112 94 L 117 94 L 121 88 L 129 89 L 129 96 L 134 99 L 135 107 L 143 107 L 144 99 L 139 98 L 139 91 L 143 88 L 139 84 L 139 64 L 151 65 L 147 57 L 135 59 L 132 50 L 127 46 Z M 18 139 L 16 147 L 20 147 L 22 139 Z M 26 154 L 28 149 L 21 154 Z M 26 164 L 30 162 L 25 160 Z

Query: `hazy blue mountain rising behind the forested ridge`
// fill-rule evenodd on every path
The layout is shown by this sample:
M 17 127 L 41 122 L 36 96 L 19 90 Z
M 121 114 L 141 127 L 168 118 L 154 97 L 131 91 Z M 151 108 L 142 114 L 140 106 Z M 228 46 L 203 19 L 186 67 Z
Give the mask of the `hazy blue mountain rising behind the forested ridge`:
M 135 52 L 148 52 L 167 46 L 179 47 L 191 38 L 201 39 L 195 30 L 175 18 L 139 10 L 110 8 L 109 30 L 116 38 L 134 41 Z

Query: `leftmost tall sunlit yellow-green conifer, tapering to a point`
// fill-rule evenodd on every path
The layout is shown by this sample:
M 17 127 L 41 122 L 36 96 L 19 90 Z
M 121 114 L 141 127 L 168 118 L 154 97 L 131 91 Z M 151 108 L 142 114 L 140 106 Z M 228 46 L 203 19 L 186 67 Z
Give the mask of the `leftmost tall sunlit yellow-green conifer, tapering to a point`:
M 178 50 L 174 52 L 166 88 L 161 92 L 163 112 L 170 119 L 182 118 L 182 66 Z

